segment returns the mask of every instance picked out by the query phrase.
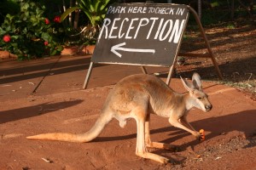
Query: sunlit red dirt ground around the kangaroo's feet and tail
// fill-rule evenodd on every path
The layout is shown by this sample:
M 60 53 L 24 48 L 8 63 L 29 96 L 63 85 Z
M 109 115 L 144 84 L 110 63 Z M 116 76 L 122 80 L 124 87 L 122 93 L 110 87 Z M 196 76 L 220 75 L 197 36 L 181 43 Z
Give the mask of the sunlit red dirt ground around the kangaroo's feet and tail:
M 171 158 L 170 165 L 135 155 L 133 120 L 125 128 L 114 120 L 85 144 L 25 138 L 49 132 L 84 133 L 96 121 L 113 86 L 1 100 L 0 169 L 255 169 L 255 102 L 235 88 L 204 85 L 213 109 L 190 111 L 189 121 L 206 130 L 205 141 L 171 127 L 166 118 L 152 117 L 152 140 L 177 144 L 179 150 L 148 150 Z M 172 80 L 172 87 L 183 93 L 181 86 L 179 80 Z

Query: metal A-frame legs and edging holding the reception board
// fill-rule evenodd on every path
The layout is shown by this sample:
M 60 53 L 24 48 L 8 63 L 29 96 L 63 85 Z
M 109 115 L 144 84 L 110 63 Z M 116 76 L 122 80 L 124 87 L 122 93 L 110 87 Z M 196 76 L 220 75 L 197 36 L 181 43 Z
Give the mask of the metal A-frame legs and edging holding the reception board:
M 120 3 L 120 4 L 132 4 L 132 3 Z M 133 3 L 133 4 L 137 4 L 137 3 Z M 148 4 L 148 3 L 143 3 L 143 4 Z M 159 5 L 159 4 L 170 4 L 170 3 L 150 3 L 151 5 Z M 177 5 L 177 4 L 174 4 L 172 3 L 172 5 Z M 213 56 L 213 53 L 212 53 L 212 48 L 210 47 L 210 43 L 208 42 L 207 40 L 207 36 L 206 36 L 206 33 L 203 29 L 203 27 L 201 26 L 201 20 L 199 19 L 197 13 L 195 12 L 195 9 L 191 8 L 190 6 L 188 5 L 183 5 L 183 6 L 186 6 L 186 8 L 188 9 L 188 14 L 187 14 L 187 18 L 185 20 L 185 26 L 183 26 L 183 30 L 181 32 L 181 37 L 179 38 L 178 42 L 177 42 L 177 48 L 176 48 L 176 51 L 174 53 L 174 56 L 170 56 L 172 57 L 172 63 L 170 63 L 170 65 L 152 65 L 152 64 L 139 64 L 139 63 L 129 63 L 129 62 L 126 62 L 126 63 L 118 63 L 118 62 L 101 62 L 101 61 L 96 61 L 95 59 L 93 59 L 93 57 L 91 58 L 91 61 L 90 61 L 90 66 L 89 66 L 89 69 L 87 71 L 87 74 L 86 74 L 86 77 L 85 77 L 85 80 L 84 80 L 84 86 L 83 88 L 87 88 L 88 86 L 88 82 L 90 80 L 90 75 L 91 75 L 91 71 L 93 69 L 93 65 L 96 63 L 96 64 L 115 64 L 115 65 L 138 65 L 138 66 L 141 66 L 142 68 L 142 71 L 143 73 L 147 74 L 147 71 L 146 71 L 146 68 L 145 66 L 170 66 L 170 70 L 168 72 L 168 76 L 167 76 L 167 79 L 166 79 L 166 84 L 170 84 L 171 82 L 171 77 L 173 75 L 173 72 L 175 70 L 175 65 L 177 63 L 177 56 L 186 56 L 186 57 L 199 57 L 199 58 L 211 58 L 212 59 L 212 63 L 215 67 L 215 70 L 217 71 L 217 74 L 218 74 L 218 77 L 219 79 L 223 79 L 222 77 L 222 74 L 218 68 L 218 64 Z M 180 53 L 179 50 L 180 50 L 180 46 L 181 46 L 181 42 L 182 42 L 182 37 L 183 37 L 183 32 L 185 31 L 186 29 L 186 26 L 187 26 L 187 21 L 189 20 L 189 12 L 191 14 L 194 15 L 195 17 L 195 20 L 196 20 L 196 23 L 197 25 L 199 26 L 199 30 L 201 31 L 201 36 L 203 37 L 204 39 L 204 42 L 206 43 L 206 46 L 207 46 L 207 51 L 208 53 L 207 54 L 191 54 L 191 53 Z M 96 45 L 97 47 L 97 45 Z M 95 53 L 97 53 L 96 51 L 97 49 L 95 49 Z M 112 51 L 113 52 L 113 51 Z M 115 53 L 113 53 L 115 54 Z

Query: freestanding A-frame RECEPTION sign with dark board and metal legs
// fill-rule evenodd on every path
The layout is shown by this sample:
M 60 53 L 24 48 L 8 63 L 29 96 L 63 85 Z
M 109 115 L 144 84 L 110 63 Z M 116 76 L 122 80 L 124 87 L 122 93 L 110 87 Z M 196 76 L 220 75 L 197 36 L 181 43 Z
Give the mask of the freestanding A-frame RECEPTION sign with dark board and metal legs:
M 207 55 L 179 53 L 189 11 L 200 27 Z M 103 20 L 83 88 L 87 88 L 94 63 L 141 65 L 143 73 L 147 73 L 144 66 L 170 67 L 166 81 L 169 84 L 179 55 L 212 58 L 218 77 L 222 78 L 193 8 L 173 3 L 115 3 L 108 7 Z

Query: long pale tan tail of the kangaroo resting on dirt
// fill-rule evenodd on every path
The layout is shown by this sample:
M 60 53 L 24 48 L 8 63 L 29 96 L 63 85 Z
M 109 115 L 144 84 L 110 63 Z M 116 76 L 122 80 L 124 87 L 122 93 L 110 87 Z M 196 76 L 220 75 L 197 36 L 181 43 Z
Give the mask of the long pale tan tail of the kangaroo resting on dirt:
M 106 113 L 106 112 L 105 112 Z M 35 139 L 35 140 L 58 140 L 66 142 L 89 142 L 92 139 L 95 139 L 100 133 L 102 133 L 103 128 L 112 120 L 111 114 L 104 114 L 96 120 L 96 123 L 90 130 L 86 133 L 73 134 L 73 133 L 44 133 L 34 136 L 28 136 L 26 139 Z

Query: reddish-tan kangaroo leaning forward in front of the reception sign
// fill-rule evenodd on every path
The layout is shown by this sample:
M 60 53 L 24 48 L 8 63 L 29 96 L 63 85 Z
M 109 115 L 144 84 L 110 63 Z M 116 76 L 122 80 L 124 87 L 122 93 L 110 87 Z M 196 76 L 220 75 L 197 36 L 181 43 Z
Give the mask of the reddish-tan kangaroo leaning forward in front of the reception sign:
M 67 142 L 89 142 L 95 139 L 103 128 L 113 118 L 119 121 L 120 127 L 125 127 L 129 118 L 137 122 L 136 155 L 143 158 L 168 163 L 166 157 L 149 153 L 146 147 L 165 150 L 175 150 L 172 144 L 152 142 L 149 134 L 150 113 L 169 118 L 174 127 L 182 128 L 200 139 L 201 133 L 195 131 L 186 116 L 192 107 L 202 111 L 211 111 L 212 105 L 207 94 L 202 91 L 201 77 L 194 73 L 192 83 L 181 77 L 184 88 L 189 93 L 178 94 L 169 88 L 159 78 L 147 74 L 138 74 L 125 77 L 118 82 L 108 94 L 102 113 L 96 123 L 86 133 L 44 133 L 26 137 L 26 139 L 59 140 Z

